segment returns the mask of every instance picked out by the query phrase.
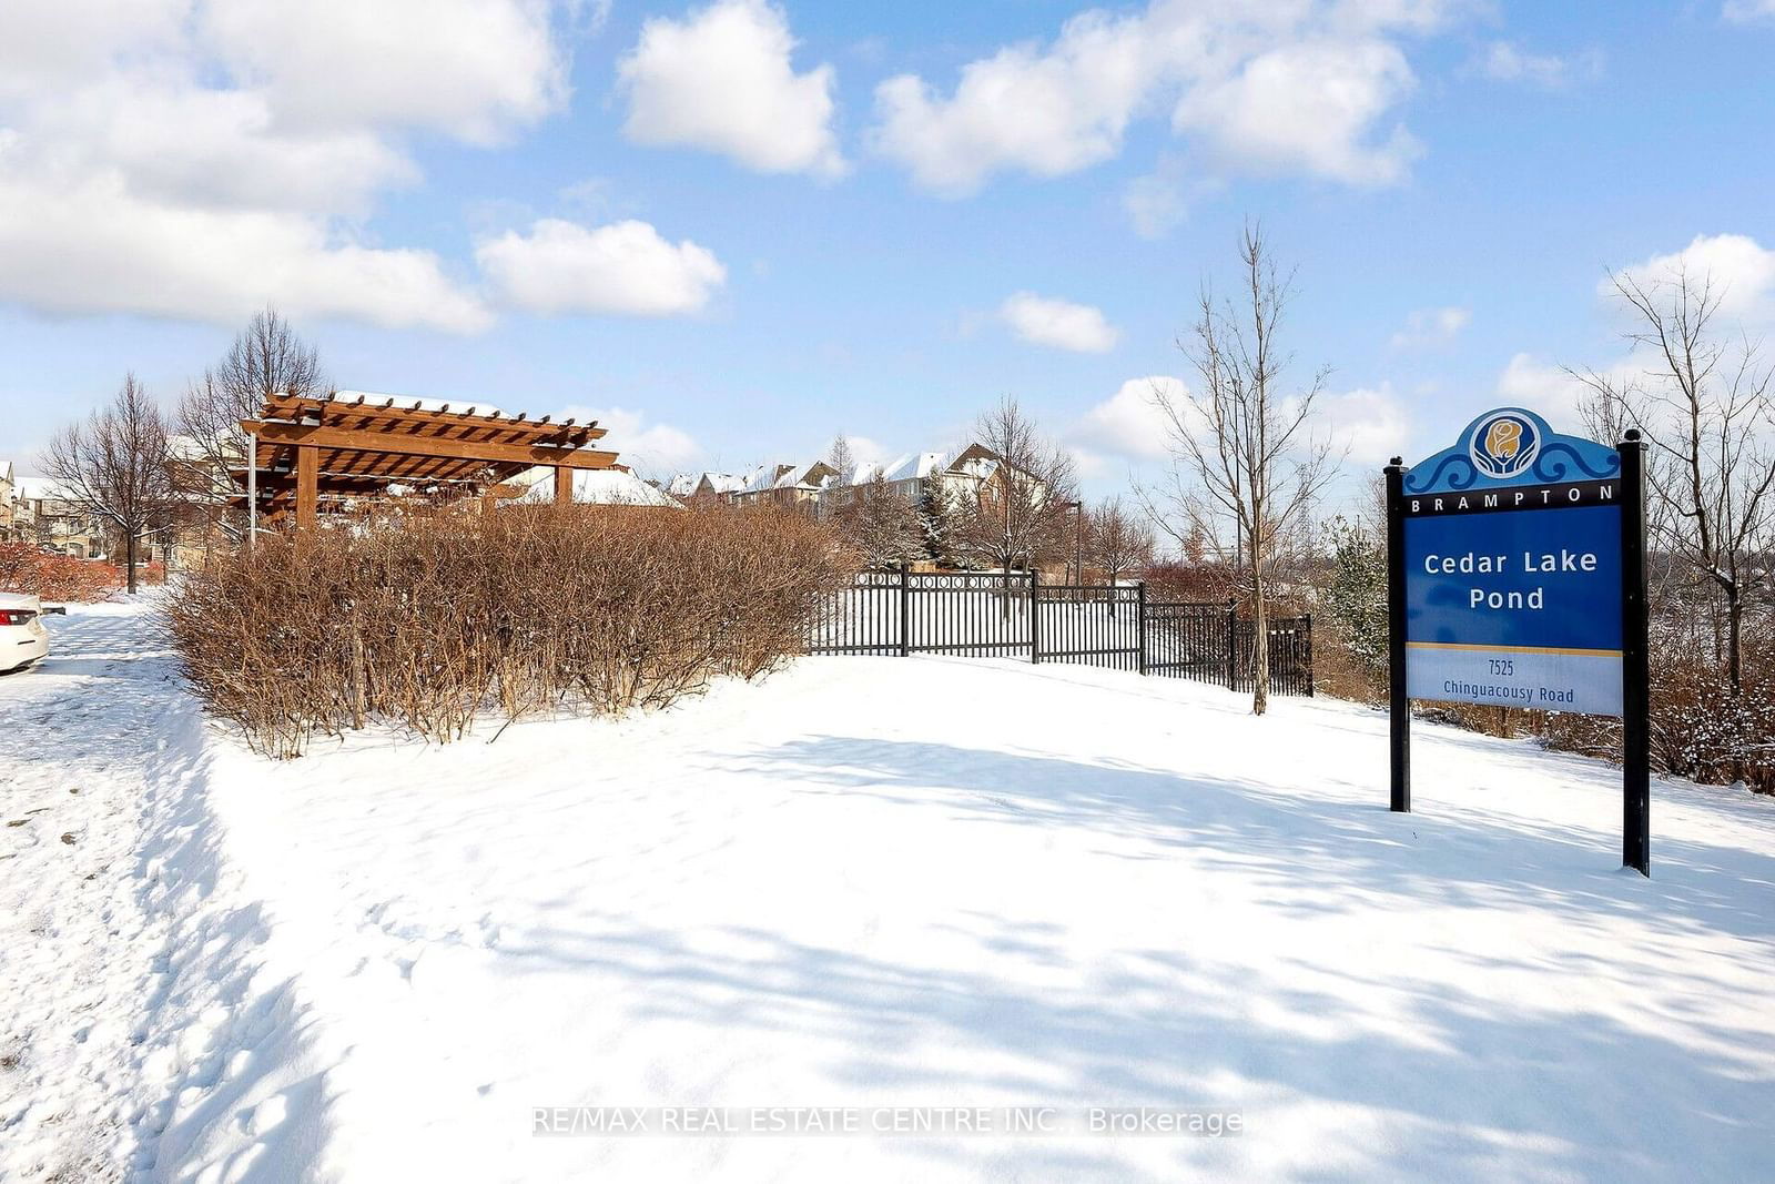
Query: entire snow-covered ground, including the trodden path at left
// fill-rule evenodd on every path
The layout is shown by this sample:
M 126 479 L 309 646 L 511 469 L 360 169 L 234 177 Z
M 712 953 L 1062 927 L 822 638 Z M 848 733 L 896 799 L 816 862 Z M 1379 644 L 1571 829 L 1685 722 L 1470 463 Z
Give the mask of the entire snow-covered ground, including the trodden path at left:
M 28 722 L 0 730 L 0 1177 L 1775 1163 L 1766 799 L 1656 783 L 1645 880 L 1599 763 L 1425 726 L 1395 817 L 1379 714 L 978 659 L 273 765 L 199 722 L 138 611 L 57 625 L 50 667 L 0 680 Z M 532 1134 L 582 1104 L 1244 1133 Z

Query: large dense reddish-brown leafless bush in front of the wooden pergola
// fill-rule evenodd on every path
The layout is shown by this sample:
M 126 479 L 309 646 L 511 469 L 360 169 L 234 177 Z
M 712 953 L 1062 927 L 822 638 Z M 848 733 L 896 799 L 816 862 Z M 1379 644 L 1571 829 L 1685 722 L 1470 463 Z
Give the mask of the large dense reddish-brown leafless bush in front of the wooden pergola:
M 666 706 L 806 644 L 848 552 L 792 513 L 504 506 L 266 538 L 169 600 L 208 706 L 273 756 L 371 721 Z

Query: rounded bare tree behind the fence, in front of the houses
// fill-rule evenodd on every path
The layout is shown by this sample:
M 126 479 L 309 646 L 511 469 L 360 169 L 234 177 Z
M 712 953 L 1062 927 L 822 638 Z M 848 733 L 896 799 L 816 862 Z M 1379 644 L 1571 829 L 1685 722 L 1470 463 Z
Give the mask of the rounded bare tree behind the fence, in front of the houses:
M 992 463 L 962 506 L 958 534 L 974 559 L 1008 577 L 1012 566 L 1033 568 L 1063 545 L 1074 495 L 1072 456 L 1042 437 L 1010 396 L 980 417 L 974 442 Z

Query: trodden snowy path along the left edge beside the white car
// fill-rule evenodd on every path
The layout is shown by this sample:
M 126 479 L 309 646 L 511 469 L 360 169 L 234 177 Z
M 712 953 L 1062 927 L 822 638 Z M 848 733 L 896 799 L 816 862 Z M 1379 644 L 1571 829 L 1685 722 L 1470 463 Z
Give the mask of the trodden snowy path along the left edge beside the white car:
M 222 866 L 197 705 L 149 604 L 50 627 L 0 676 L 0 1180 L 192 1179 L 218 1124 L 215 1168 L 268 1159 L 288 989 Z

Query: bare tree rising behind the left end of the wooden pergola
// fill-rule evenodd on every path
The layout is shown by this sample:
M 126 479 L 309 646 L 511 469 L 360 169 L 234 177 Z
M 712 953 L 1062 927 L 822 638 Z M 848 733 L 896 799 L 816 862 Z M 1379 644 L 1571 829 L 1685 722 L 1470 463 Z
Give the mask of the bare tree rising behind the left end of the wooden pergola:
M 320 355 L 277 309 L 256 312 L 222 359 L 193 378 L 179 399 L 179 483 L 186 497 L 209 506 L 231 538 L 243 538 L 243 515 L 227 511 L 240 486 L 231 472 L 247 463 L 240 421 L 257 419 L 266 399 L 314 396 L 328 389 Z

